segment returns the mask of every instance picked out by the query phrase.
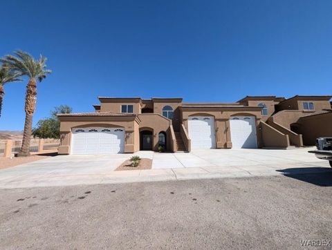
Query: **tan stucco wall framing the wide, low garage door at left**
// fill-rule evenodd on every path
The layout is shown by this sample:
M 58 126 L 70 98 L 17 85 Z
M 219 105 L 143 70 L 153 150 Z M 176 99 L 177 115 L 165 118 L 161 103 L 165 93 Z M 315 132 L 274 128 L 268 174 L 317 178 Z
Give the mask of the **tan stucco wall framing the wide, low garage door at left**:
M 124 153 L 133 153 L 138 151 L 137 148 L 139 148 L 140 142 L 139 139 L 137 140 L 138 120 L 136 117 L 60 117 L 60 121 L 61 138 L 59 154 L 71 153 L 72 128 L 84 128 L 93 126 L 124 128 Z

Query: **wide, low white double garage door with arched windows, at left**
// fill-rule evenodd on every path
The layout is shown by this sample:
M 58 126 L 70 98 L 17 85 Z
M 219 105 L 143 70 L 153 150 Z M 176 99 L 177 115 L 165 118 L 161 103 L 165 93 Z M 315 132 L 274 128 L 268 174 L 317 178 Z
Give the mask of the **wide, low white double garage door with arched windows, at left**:
M 107 154 L 124 152 L 122 128 L 73 128 L 71 153 Z

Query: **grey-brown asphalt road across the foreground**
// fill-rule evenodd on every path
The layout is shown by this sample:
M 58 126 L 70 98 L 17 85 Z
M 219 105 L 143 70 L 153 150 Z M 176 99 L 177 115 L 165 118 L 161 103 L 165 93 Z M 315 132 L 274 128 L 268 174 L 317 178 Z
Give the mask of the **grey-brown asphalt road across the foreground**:
M 300 249 L 301 240 L 332 240 L 332 172 L 3 189 L 0 202 L 0 249 Z

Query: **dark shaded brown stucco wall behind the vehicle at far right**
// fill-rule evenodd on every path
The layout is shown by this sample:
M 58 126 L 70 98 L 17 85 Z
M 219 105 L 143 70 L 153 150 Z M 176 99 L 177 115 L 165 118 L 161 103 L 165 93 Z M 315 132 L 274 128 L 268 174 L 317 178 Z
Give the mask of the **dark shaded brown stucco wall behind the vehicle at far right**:
M 299 125 L 306 146 L 315 145 L 317 137 L 332 137 L 332 113 L 300 118 Z

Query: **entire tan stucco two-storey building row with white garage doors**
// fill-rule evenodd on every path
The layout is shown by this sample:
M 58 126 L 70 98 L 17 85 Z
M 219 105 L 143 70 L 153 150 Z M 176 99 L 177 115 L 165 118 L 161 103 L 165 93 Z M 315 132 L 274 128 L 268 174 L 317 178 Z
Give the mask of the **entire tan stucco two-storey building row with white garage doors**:
M 332 136 L 331 96 L 245 97 L 235 103 L 98 97 L 93 113 L 59 114 L 60 154 L 287 148 Z

